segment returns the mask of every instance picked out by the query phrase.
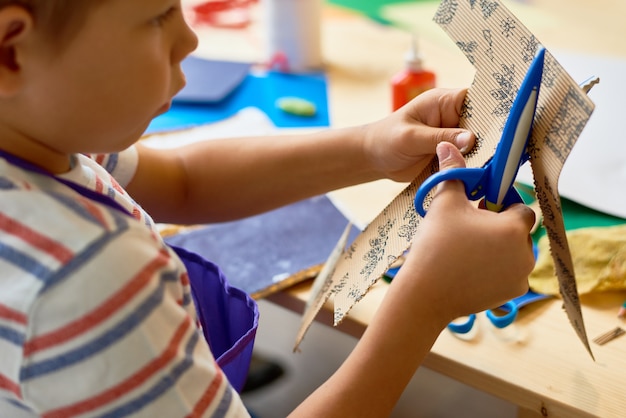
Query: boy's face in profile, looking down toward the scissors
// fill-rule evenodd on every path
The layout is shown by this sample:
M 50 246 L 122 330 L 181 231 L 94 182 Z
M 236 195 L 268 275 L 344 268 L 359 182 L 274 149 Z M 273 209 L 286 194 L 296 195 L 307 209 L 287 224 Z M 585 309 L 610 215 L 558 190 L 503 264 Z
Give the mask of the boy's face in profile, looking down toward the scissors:
M 59 51 L 34 39 L 23 56 L 23 123 L 60 154 L 134 143 L 183 87 L 180 62 L 197 45 L 180 0 L 107 0 Z

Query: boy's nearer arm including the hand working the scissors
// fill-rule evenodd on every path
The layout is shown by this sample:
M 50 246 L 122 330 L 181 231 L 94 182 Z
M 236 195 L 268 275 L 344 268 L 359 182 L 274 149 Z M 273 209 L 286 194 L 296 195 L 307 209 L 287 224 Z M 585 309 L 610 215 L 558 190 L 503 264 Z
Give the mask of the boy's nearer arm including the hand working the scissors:
M 439 148 L 451 153 L 446 157 Z M 442 169 L 464 166 L 451 146 L 439 148 Z M 355 349 L 293 416 L 389 416 L 451 320 L 528 290 L 533 222 L 532 210 L 524 205 L 501 213 L 478 209 L 465 197 L 462 183 L 442 183 Z

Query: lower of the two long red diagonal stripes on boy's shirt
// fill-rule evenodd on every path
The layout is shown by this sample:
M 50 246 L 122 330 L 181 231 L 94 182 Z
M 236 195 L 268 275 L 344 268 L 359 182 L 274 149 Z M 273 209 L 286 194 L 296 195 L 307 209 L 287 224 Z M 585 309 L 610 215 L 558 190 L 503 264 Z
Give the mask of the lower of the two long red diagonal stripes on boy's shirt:
M 168 363 L 170 363 L 175 357 L 176 353 L 180 349 L 180 344 L 183 341 L 183 337 L 191 327 L 191 318 L 185 317 L 183 323 L 178 327 L 174 333 L 170 343 L 165 351 L 159 355 L 159 357 L 152 360 L 146 366 L 144 366 L 137 373 L 129 377 L 128 379 L 120 382 L 118 385 L 102 392 L 101 394 L 92 398 L 85 399 L 81 402 L 77 402 L 73 405 L 58 408 L 52 411 L 48 411 L 42 415 L 42 418 L 67 418 L 70 416 L 80 415 L 100 408 L 109 402 L 119 399 L 121 394 L 129 393 L 143 384 L 154 374 L 164 369 Z

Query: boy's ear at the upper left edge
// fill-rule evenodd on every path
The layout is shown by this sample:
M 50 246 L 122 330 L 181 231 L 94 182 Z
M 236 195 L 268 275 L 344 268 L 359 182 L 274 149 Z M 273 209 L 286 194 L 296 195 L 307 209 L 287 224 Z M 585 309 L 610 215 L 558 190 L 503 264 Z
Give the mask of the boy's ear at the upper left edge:
M 22 68 L 17 51 L 32 28 L 32 15 L 25 8 L 0 9 L 0 97 L 10 96 L 20 88 Z

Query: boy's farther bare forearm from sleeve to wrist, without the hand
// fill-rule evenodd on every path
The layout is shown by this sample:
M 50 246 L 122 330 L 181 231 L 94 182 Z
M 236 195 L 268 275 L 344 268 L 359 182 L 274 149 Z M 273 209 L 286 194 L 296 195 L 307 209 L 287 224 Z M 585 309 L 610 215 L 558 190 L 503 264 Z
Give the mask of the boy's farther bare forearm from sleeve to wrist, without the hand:
M 351 130 L 201 141 L 175 150 L 138 144 L 137 172 L 127 190 L 159 222 L 264 212 L 376 178 Z

